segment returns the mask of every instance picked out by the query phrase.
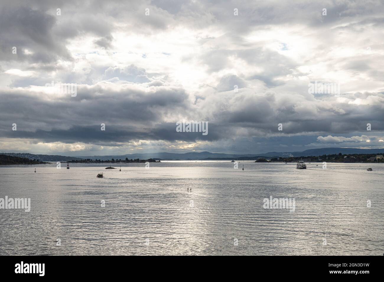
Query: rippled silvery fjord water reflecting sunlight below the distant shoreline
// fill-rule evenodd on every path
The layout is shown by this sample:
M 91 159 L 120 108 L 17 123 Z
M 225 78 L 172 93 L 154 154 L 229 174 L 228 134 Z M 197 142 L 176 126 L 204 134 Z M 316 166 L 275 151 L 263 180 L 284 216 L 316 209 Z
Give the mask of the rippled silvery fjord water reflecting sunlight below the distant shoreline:
M 31 198 L 30 212 L 0 209 L 0 255 L 384 253 L 383 164 L 108 166 L 0 167 L 0 198 Z M 270 196 L 295 211 L 264 209 Z

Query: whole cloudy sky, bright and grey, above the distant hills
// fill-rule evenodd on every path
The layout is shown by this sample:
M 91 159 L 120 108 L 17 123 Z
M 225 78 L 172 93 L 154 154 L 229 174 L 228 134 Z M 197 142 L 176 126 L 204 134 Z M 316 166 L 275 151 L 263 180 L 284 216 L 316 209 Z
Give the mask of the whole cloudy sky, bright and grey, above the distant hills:
M 0 151 L 383 148 L 383 59 L 382 1 L 2 1 Z

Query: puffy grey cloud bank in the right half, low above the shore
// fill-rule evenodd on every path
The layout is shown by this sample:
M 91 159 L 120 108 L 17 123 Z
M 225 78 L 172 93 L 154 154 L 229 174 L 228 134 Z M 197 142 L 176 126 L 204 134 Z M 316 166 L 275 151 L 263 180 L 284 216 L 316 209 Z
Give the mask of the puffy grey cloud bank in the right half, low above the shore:
M 384 96 L 379 93 L 355 93 L 346 95 L 350 101 Z M 384 101 L 384 100 L 382 100 Z M 215 104 L 208 100 L 207 103 Z M 281 102 L 276 93 L 236 94 L 227 109 L 217 104 L 213 122 L 219 126 L 227 125 L 227 130 L 246 129 L 248 134 L 319 134 L 329 132 L 343 134 L 364 132 L 366 124 L 374 124 L 375 131 L 384 130 L 384 104 L 360 105 L 340 104 L 336 97 L 326 96 L 323 101 L 289 99 Z M 341 108 L 339 108 L 341 107 Z M 343 109 L 343 110 L 341 110 Z M 278 131 L 278 124 L 283 131 Z M 225 131 L 225 130 L 224 130 Z M 224 133 L 222 134 L 222 136 Z

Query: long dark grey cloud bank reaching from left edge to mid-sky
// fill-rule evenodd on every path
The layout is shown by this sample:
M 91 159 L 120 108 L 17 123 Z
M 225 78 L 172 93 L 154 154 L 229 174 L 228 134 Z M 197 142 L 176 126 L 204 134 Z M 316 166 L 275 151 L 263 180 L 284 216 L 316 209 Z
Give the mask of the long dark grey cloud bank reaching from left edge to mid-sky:
M 52 99 L 46 99 L 39 92 L 0 92 L 3 101 L 0 104 L 3 121 L 0 126 L 7 130 L 9 123 L 18 121 L 18 128 L 23 130 L 37 130 L 40 126 L 68 128 L 71 125 L 124 125 L 133 122 L 141 127 L 143 124 L 161 123 L 165 114 L 189 109 L 187 95 L 182 89 L 157 87 L 152 92 L 144 92 L 128 87 L 111 89 L 110 86 L 112 84 L 78 86 L 76 97 L 50 94 Z

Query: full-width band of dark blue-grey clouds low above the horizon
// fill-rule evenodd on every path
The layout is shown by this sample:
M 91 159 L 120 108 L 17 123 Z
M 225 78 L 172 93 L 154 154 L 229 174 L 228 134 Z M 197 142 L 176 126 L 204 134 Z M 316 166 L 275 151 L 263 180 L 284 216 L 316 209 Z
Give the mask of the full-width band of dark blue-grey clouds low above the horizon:
M 348 105 L 343 108 L 344 114 L 337 114 L 333 107 L 324 107 L 318 102 L 316 114 L 303 116 L 302 110 L 306 109 L 298 109 L 297 101 L 292 101 L 291 110 L 284 111 L 275 107 L 275 94 L 266 93 L 256 96 L 238 94 L 227 110 L 213 108 L 217 110 L 214 119 L 206 120 L 204 115 L 195 115 L 194 120 L 209 121 L 207 136 L 180 133 L 175 131 L 175 122 L 179 120 L 170 123 L 164 117 L 193 112 L 182 89 L 157 87 L 156 92 L 144 92 L 122 87 L 112 91 L 108 86 L 80 86 L 76 97 L 68 95 L 54 101 L 45 99 L 41 93 L 2 92 L 1 135 L 45 142 L 101 144 L 130 140 L 214 141 L 236 135 L 237 130 L 246 130 L 243 135 L 249 136 L 255 133 L 340 134 L 364 131 L 367 123 L 372 124 L 374 131 L 384 130 L 383 105 Z M 368 95 L 356 93 L 355 98 Z M 212 101 L 202 102 L 210 104 Z M 336 101 L 332 98 L 328 103 Z M 287 109 L 290 105 L 283 107 Z M 17 132 L 12 131 L 13 123 L 18 126 Z M 99 132 L 101 123 L 106 124 L 106 132 Z M 278 131 L 278 123 L 283 124 L 283 132 Z

